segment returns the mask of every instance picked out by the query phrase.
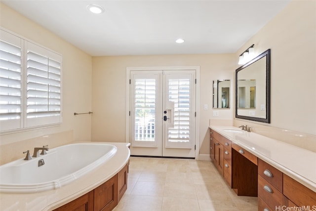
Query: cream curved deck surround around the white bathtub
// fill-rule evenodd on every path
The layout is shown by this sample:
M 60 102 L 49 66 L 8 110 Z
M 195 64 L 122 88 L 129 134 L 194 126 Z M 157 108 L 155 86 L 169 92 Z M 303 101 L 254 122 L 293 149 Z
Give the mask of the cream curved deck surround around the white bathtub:
M 106 143 L 117 147 L 116 154 L 106 163 L 58 189 L 29 194 L 0 193 L 0 210 L 51 211 L 100 186 L 117 174 L 128 163 L 130 156 L 128 144 Z

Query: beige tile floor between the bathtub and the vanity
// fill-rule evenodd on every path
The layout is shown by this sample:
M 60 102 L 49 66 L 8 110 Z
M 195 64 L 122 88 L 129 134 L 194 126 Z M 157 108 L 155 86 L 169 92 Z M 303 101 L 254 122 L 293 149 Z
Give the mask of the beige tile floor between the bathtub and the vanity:
M 257 211 L 210 161 L 130 158 L 127 190 L 114 211 Z

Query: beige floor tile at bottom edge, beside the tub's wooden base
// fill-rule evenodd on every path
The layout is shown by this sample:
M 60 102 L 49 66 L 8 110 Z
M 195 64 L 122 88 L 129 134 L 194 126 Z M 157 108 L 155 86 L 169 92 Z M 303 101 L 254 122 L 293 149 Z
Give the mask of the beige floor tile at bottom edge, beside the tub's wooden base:
M 124 195 L 115 211 L 161 211 L 162 197 Z

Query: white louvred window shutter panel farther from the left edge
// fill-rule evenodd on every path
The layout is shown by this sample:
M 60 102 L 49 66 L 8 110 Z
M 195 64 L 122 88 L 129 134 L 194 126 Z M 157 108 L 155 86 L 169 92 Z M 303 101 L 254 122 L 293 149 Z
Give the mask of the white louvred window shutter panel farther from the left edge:
M 27 127 L 61 122 L 61 56 L 30 42 L 26 113 Z

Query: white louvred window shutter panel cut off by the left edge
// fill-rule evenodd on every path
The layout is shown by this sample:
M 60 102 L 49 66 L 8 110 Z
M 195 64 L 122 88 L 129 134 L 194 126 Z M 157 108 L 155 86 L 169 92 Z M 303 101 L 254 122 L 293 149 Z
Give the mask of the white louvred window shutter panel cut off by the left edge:
M 21 39 L 1 30 L 0 123 L 1 131 L 22 127 Z

